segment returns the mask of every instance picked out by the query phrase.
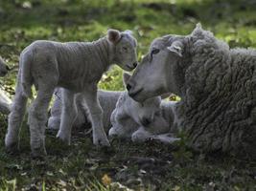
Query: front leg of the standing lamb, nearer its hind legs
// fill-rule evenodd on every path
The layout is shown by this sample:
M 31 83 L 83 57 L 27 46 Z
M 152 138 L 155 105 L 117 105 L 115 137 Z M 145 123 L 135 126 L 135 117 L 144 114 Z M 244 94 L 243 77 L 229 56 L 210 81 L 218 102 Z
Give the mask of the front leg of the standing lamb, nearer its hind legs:
M 62 109 L 60 117 L 60 128 L 57 138 L 70 144 L 72 125 L 77 117 L 75 94 L 69 90 L 62 89 Z

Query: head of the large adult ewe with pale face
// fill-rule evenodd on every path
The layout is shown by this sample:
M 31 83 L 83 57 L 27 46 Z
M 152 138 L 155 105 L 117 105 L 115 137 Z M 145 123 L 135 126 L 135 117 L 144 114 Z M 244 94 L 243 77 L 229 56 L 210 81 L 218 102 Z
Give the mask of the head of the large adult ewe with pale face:
M 209 32 L 203 31 L 198 25 L 190 35 L 165 35 L 154 39 L 149 53 L 128 81 L 129 96 L 139 102 L 165 93 L 182 97 L 185 94 L 182 87 L 186 70 L 194 56 L 191 46 L 195 41 L 198 44 L 204 42 L 206 34 Z M 207 37 L 211 38 L 211 35 Z

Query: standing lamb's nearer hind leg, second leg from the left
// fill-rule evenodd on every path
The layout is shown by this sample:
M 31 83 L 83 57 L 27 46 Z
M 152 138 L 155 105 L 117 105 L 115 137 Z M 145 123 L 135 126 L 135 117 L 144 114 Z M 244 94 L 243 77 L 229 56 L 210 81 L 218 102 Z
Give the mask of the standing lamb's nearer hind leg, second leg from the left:
M 37 96 L 30 108 L 28 122 L 31 133 L 31 149 L 33 157 L 46 155 L 45 150 L 45 124 L 47 121 L 47 109 L 54 93 L 54 86 L 40 86 Z

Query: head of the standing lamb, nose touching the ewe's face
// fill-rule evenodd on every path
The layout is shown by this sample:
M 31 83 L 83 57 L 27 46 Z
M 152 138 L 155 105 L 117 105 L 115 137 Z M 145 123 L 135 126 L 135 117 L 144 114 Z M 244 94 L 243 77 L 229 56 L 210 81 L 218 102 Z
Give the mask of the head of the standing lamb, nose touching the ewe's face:
M 113 61 L 125 71 L 132 71 L 137 66 L 137 41 L 130 31 L 107 31 L 107 39 L 114 46 Z

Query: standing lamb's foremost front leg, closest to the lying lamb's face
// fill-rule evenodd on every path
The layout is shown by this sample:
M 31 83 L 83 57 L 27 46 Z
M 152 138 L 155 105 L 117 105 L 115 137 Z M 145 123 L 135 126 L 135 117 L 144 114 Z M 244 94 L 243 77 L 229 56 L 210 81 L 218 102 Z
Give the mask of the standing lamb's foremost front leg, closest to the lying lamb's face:
M 95 145 L 110 146 L 105 135 L 103 125 L 103 110 L 97 97 L 97 88 L 83 92 L 86 106 L 90 113 L 90 120 L 93 130 L 93 143 Z

